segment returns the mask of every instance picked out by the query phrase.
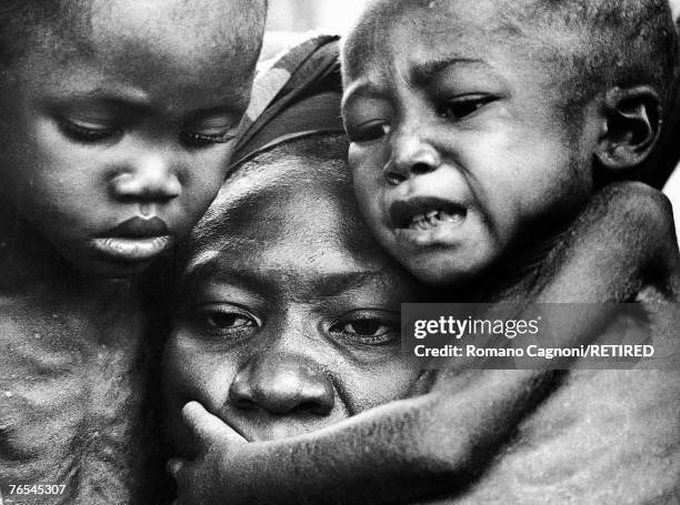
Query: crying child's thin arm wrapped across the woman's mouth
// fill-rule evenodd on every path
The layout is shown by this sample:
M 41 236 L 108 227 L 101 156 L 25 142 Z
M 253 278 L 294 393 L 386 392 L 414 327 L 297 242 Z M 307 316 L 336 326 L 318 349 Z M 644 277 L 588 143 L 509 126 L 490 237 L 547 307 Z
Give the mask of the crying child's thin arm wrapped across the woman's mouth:
M 622 302 L 652 290 L 676 300 L 679 264 L 666 199 L 641 184 L 612 184 L 551 254 L 528 297 Z M 593 311 L 572 321 L 561 344 L 581 342 L 604 316 Z M 199 456 L 170 465 L 179 503 L 386 503 L 454 492 L 508 440 L 553 378 L 554 372 L 541 370 L 449 372 L 423 396 L 309 435 L 253 444 L 230 443 L 230 428 L 192 403 L 183 414 Z

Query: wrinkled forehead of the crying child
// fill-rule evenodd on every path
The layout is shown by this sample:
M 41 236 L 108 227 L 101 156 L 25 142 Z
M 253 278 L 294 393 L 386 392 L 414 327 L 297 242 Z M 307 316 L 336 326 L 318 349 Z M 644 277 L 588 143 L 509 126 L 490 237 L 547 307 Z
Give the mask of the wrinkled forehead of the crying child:
M 424 21 L 419 21 L 420 29 L 416 23 L 392 26 L 368 48 L 350 40 L 343 58 L 346 105 L 357 89 L 360 94 L 393 95 L 400 83 L 422 90 L 433 89 L 434 83 L 449 89 L 493 83 L 500 91 L 524 82 L 537 90 L 553 89 L 562 77 L 566 80 L 557 63 L 558 44 L 546 43 L 539 32 L 528 37 L 528 31 L 506 21 L 504 26 L 461 20 L 442 24 L 438 16 L 431 26 Z M 359 57 L 357 49 L 364 55 Z

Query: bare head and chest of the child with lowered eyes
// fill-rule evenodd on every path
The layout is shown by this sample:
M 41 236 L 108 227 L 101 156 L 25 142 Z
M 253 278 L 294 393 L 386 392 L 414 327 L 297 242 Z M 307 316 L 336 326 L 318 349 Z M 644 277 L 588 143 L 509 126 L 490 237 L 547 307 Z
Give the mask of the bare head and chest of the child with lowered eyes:
M 81 7 L 69 30 L 27 27 L 0 75 L 0 498 L 149 504 L 137 279 L 221 185 L 263 7 Z

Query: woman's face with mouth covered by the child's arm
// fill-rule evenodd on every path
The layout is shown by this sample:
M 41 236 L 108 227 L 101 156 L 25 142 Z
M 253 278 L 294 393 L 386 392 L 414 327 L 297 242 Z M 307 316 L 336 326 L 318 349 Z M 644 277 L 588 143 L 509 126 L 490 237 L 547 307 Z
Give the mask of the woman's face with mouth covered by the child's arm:
M 404 397 L 419 374 L 400 355 L 399 311 L 423 287 L 347 222 L 347 181 L 313 163 L 233 181 L 192 235 L 209 242 L 183 269 L 163 378 L 177 441 L 190 400 L 273 440 Z

